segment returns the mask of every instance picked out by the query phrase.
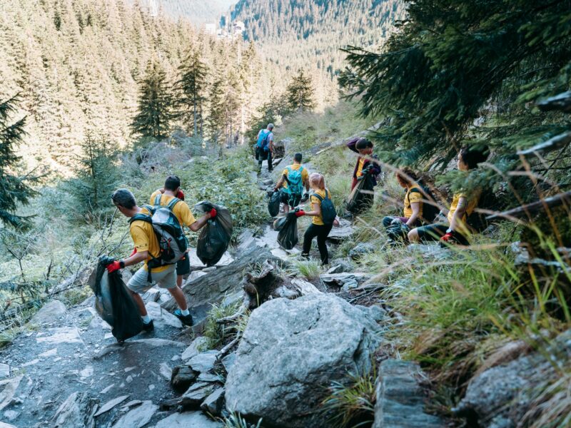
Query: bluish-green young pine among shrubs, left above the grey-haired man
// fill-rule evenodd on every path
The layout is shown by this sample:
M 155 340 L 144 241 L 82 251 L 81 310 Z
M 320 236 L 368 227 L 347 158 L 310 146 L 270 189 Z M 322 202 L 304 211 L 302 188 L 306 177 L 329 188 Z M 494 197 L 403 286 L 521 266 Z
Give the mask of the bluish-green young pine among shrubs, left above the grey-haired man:
M 106 137 L 89 133 L 81 143 L 81 155 L 76 161 L 76 178 L 66 183 L 67 190 L 74 196 L 71 213 L 77 215 L 78 220 L 89 221 L 111 207 L 109 198 L 118 180 L 116 151 Z

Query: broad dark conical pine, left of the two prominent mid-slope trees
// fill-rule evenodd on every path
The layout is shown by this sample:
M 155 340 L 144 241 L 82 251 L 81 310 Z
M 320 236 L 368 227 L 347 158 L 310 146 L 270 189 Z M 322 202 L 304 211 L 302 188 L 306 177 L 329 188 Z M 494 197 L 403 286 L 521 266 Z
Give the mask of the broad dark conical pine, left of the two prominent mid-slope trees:
M 139 85 L 138 112 L 131 123 L 133 134 L 166 138 L 174 117 L 173 102 L 165 71 L 158 62 L 149 63 Z

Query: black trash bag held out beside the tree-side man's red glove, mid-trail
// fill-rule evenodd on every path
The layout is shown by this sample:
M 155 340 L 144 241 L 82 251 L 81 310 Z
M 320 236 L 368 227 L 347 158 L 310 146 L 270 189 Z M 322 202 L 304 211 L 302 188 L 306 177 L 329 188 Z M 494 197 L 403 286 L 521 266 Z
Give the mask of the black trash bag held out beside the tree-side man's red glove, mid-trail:
M 216 265 L 230 245 L 233 230 L 232 215 L 228 208 L 207 200 L 197 203 L 194 208 L 202 213 L 208 213 L 212 208 L 216 208 L 216 217 L 209 219 L 202 228 L 196 245 L 196 255 L 201 262 L 207 266 Z

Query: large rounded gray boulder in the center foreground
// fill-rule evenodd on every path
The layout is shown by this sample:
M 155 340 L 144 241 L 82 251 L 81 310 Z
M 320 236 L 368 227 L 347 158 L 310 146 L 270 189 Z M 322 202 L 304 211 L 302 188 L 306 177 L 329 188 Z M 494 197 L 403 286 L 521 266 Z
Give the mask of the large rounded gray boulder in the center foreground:
M 268 427 L 329 427 L 320 402 L 333 381 L 368 372 L 376 322 L 345 300 L 310 294 L 252 312 L 226 380 L 226 407 Z

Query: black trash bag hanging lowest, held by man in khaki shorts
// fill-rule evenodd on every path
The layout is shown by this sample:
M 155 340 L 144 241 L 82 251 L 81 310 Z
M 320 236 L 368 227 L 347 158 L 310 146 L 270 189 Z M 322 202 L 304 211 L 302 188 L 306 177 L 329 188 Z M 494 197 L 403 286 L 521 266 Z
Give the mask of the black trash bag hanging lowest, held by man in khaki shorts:
M 95 309 L 98 314 L 111 325 L 113 336 L 118 342 L 138 335 L 143 330 L 143 320 L 138 307 L 127 290 L 121 272 L 108 273 L 106 265 L 112 258 L 103 256 L 99 259 L 95 278 L 89 285 L 95 293 Z

